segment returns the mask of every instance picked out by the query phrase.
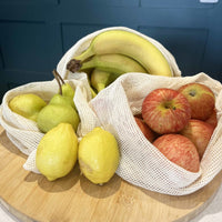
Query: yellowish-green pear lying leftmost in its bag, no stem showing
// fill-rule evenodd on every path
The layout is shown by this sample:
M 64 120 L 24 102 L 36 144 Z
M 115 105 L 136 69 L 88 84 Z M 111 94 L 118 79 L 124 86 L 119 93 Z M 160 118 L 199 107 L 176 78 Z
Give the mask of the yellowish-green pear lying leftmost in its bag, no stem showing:
M 13 112 L 33 121 L 37 121 L 40 110 L 46 105 L 44 100 L 33 93 L 19 94 L 9 101 Z

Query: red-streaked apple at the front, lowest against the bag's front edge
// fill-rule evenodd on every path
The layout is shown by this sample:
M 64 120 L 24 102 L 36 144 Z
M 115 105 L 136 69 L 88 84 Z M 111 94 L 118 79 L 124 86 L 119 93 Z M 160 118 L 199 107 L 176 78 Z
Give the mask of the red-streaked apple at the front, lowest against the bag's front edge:
M 200 158 L 195 145 L 181 134 L 164 134 L 158 138 L 153 145 L 160 150 L 170 161 L 181 168 L 198 172 L 200 169 Z

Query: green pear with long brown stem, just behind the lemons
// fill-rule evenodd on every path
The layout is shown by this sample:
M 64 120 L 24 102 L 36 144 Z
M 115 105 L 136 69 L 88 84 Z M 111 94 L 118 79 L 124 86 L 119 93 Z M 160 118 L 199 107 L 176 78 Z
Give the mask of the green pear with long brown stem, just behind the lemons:
M 54 94 L 49 104 L 39 112 L 37 119 L 38 128 L 46 133 L 63 122 L 70 123 L 74 131 L 77 131 L 80 119 L 77 110 L 72 105 L 73 100 L 70 97 L 63 95 L 61 83 L 58 78 L 56 79 L 60 87 L 60 93 Z

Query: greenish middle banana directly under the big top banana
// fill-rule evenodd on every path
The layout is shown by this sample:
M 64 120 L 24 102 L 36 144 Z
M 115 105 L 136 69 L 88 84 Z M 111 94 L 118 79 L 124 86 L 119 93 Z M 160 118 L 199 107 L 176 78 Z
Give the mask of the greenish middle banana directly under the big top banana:
M 117 74 L 123 74 L 127 72 L 147 72 L 145 69 L 143 69 L 143 67 L 141 67 L 135 60 L 123 54 L 93 56 L 90 60 L 80 63 L 79 70 L 85 70 L 90 68 L 98 68 L 102 71 Z

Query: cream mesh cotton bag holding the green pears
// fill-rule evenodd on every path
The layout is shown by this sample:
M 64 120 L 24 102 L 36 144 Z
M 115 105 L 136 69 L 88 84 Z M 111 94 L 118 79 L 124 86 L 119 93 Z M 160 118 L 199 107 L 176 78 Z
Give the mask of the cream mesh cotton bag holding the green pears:
M 82 107 L 81 114 L 84 112 L 88 105 L 87 101 L 91 99 L 90 87 L 88 82 L 88 77 L 85 73 L 78 73 L 75 78 L 68 75 L 65 80 L 73 89 L 75 89 L 74 102 L 77 105 Z M 9 101 L 23 93 L 34 93 L 42 98 L 44 101 L 50 101 L 50 99 L 58 93 L 59 87 L 56 80 L 44 81 L 44 82 L 31 82 L 12 90 L 9 90 L 2 100 L 0 109 L 0 123 L 4 128 L 7 135 L 12 141 L 12 143 L 26 155 L 28 160 L 24 163 L 24 169 L 39 173 L 36 168 L 36 150 L 44 135 L 38 129 L 37 122 L 26 119 L 14 112 L 9 108 Z M 87 104 L 87 105 L 85 105 Z M 89 109 L 88 109 L 89 110 Z M 81 117 L 80 117 L 81 119 Z M 89 124 L 90 120 L 88 119 Z M 94 122 L 91 123 L 94 125 Z M 81 132 L 81 124 L 79 124 L 78 132 Z

